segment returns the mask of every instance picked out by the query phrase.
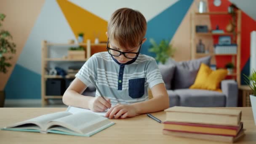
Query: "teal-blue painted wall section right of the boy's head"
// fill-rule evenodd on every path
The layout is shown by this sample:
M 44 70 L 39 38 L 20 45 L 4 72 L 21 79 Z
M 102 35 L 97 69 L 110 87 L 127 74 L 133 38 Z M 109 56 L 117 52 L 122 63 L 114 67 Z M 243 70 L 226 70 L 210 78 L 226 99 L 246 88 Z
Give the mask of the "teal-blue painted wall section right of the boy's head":
M 142 45 L 141 53 L 148 56 L 155 56 L 155 53 L 148 51 L 149 39 L 153 38 L 156 43 L 165 39 L 170 41 L 178 29 L 181 21 L 189 10 L 193 0 L 179 0 L 162 13 L 147 22 L 146 42 Z

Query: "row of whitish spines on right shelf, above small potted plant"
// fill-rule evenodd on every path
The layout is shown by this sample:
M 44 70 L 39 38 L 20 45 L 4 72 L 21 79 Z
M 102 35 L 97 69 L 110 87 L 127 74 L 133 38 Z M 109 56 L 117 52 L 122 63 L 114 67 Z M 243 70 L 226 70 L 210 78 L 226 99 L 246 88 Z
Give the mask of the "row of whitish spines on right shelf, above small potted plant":
M 214 45 L 216 54 L 237 54 L 237 44 L 230 45 Z

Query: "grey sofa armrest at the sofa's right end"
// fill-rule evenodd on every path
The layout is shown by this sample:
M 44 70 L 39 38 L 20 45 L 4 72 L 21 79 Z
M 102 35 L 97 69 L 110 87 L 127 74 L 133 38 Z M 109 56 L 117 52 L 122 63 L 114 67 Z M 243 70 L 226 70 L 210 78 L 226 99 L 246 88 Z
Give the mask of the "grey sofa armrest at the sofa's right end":
M 222 80 L 221 90 L 226 96 L 226 107 L 237 107 L 238 86 L 235 80 Z

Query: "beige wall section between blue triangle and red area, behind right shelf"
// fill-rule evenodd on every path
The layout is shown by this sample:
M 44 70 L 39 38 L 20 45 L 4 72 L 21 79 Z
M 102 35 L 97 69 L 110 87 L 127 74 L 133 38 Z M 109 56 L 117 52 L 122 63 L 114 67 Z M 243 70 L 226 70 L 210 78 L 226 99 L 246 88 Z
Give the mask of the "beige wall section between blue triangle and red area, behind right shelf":
M 187 11 L 186 16 L 181 21 L 179 28 L 176 30 L 175 35 L 171 40 L 171 44 L 176 48 L 176 52 L 174 54 L 175 61 L 187 61 L 191 59 L 191 48 L 190 48 L 190 37 L 191 37 L 191 13 L 193 11 L 197 12 L 197 2 L 199 0 L 194 0 L 189 10 Z M 206 0 L 206 5 L 208 5 L 208 1 Z M 198 16 L 197 16 L 198 17 Z M 208 28 L 211 27 L 210 18 L 208 15 L 200 16 L 200 19 L 195 19 L 195 25 L 197 24 L 206 24 Z M 205 43 L 205 47 L 213 44 L 212 37 L 207 37 L 207 42 Z M 205 38 L 203 39 L 204 42 Z M 198 43 L 198 39 L 195 40 L 195 43 Z

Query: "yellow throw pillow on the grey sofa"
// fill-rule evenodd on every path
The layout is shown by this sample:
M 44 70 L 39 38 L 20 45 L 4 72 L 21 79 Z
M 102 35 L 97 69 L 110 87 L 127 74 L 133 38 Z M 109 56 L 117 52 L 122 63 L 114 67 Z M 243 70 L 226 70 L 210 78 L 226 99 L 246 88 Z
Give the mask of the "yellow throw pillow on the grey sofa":
M 227 69 L 217 69 L 213 71 L 206 64 L 201 64 L 195 83 L 189 88 L 191 89 L 205 89 L 211 91 L 221 91 L 219 85 L 221 80 L 227 76 Z

